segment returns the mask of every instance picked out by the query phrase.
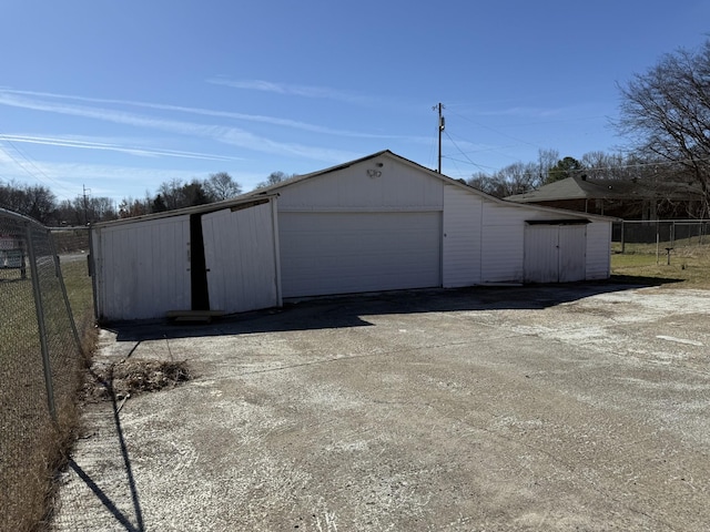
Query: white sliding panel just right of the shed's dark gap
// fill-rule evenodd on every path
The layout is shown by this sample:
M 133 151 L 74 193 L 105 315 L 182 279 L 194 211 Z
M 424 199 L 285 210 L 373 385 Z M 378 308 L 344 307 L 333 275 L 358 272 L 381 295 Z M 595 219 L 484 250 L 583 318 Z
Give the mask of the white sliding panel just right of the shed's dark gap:
M 202 217 L 210 308 L 242 313 L 280 304 L 272 203 Z

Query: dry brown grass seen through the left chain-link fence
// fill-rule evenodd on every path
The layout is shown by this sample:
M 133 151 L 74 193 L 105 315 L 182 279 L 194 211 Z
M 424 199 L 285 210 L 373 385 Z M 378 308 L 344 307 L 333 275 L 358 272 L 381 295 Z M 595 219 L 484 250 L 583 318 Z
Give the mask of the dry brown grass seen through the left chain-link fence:
M 74 344 L 60 291 L 54 290 L 43 301 L 48 305 L 45 320 L 57 410 L 53 420 L 47 402 L 31 280 L 21 279 L 19 272 L 4 273 L 14 274 L 14 278 L 3 277 L 0 286 L 7 296 L 4 311 L 10 313 L 0 327 L 0 530 L 41 531 L 47 529 L 52 507 L 54 477 L 67 463 L 74 441 L 85 357 L 95 345 L 91 279 L 85 262 L 62 265 L 82 354 L 72 352 Z M 63 317 L 58 318 L 60 315 Z

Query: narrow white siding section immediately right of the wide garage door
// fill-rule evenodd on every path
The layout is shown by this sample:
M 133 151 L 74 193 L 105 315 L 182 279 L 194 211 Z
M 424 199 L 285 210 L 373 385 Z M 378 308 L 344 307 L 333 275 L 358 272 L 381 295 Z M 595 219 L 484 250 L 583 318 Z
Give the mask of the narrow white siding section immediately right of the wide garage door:
M 455 185 L 444 187 L 443 285 L 480 283 L 483 200 Z

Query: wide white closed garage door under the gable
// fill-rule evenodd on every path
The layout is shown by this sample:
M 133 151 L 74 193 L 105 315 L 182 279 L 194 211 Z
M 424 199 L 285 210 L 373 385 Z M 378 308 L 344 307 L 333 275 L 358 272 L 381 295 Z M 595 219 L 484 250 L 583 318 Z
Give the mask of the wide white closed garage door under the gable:
M 442 213 L 280 213 L 284 297 L 440 286 Z

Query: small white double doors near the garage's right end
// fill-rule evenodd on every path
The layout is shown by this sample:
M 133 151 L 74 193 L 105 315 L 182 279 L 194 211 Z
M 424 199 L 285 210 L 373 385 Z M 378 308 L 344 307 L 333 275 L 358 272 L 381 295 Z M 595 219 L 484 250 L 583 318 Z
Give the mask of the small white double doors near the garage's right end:
M 525 282 L 584 280 L 586 249 L 586 225 L 526 225 Z

